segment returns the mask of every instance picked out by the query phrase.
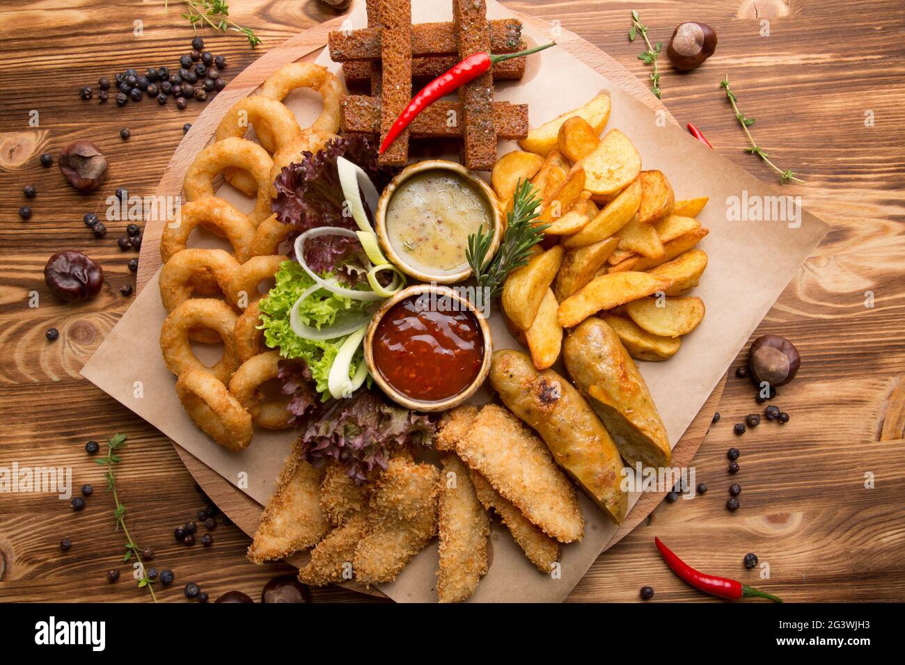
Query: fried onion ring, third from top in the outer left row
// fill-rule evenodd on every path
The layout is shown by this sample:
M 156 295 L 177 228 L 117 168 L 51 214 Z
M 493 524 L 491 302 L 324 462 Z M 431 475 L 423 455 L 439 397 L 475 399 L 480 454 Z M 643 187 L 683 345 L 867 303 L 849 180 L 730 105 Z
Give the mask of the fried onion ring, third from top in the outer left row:
M 188 167 L 183 189 L 186 199 L 195 201 L 214 195 L 214 177 L 228 166 L 236 166 L 251 174 L 258 187 L 258 201 L 248 215 L 257 226 L 271 216 L 271 166 L 273 160 L 267 151 L 244 138 L 224 138 L 212 143 L 198 153 Z

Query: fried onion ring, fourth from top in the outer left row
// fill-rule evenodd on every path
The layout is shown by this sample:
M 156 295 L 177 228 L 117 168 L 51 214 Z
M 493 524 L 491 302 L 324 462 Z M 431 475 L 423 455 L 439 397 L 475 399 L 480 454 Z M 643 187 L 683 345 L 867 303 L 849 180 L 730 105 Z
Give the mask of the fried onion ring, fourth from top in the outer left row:
M 183 204 L 179 214 L 164 225 L 160 238 L 160 258 L 165 263 L 176 252 L 186 249 L 188 236 L 199 225 L 214 226 L 233 245 L 233 255 L 240 263 L 252 256 L 255 227 L 248 215 L 240 213 L 221 198 L 210 196 Z

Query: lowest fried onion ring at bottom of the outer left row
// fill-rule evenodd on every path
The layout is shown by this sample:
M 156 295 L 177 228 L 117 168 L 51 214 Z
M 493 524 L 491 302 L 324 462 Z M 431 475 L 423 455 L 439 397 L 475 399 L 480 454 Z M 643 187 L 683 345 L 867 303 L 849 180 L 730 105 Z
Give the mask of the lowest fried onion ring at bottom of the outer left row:
M 224 448 L 236 452 L 252 442 L 252 415 L 216 377 L 196 369 L 179 375 L 179 401 L 195 424 Z

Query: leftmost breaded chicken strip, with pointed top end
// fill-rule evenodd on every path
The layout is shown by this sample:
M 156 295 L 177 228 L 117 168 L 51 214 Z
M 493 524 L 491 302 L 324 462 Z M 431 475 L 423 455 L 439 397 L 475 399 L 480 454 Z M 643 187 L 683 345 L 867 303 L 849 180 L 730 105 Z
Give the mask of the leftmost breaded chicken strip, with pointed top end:
M 248 548 L 250 561 L 262 564 L 290 556 L 314 546 L 327 534 L 329 522 L 320 509 L 323 475 L 323 469 L 315 469 L 302 460 L 297 442 Z

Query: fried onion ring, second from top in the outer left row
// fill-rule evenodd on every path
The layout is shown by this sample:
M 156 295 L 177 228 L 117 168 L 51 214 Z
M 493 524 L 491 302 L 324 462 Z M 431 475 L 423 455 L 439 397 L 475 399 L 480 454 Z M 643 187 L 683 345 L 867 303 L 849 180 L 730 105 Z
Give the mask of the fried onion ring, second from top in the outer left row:
M 226 111 L 217 126 L 215 140 L 243 138 L 249 125 L 254 126 L 262 147 L 271 155 L 301 137 L 301 128 L 290 109 L 277 100 L 255 95 L 237 101 L 232 109 Z M 253 196 L 258 190 L 252 176 L 239 168 L 224 168 L 224 177 L 226 182 L 245 195 Z

